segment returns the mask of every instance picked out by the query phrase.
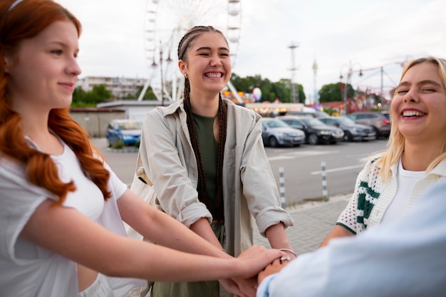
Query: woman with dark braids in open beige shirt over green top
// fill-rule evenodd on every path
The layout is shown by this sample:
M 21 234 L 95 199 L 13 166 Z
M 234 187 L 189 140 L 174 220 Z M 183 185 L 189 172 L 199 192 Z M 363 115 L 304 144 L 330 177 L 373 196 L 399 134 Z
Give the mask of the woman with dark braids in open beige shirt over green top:
M 285 233 L 293 222 L 279 202 L 261 117 L 220 94 L 231 76 L 226 38 L 212 26 L 195 26 L 182 37 L 178 59 L 184 98 L 147 114 L 131 189 L 228 256 L 253 244 L 252 216 L 271 247 L 294 258 Z M 254 280 L 220 283 L 255 295 Z M 155 297 L 219 294 L 227 292 L 217 281 L 152 286 Z

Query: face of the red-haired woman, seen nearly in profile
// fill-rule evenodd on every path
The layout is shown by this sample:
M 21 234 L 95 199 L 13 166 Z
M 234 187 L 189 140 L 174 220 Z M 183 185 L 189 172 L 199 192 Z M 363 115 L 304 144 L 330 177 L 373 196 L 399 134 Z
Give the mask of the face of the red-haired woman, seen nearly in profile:
M 81 73 L 77 54 L 78 31 L 71 21 L 55 21 L 21 41 L 14 56 L 5 58 L 14 110 L 26 114 L 67 108 Z

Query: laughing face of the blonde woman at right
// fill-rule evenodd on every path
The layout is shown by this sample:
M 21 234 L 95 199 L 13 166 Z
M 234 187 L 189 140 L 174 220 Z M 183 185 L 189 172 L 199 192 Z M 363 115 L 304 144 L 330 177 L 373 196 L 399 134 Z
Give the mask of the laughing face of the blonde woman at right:
M 407 140 L 445 139 L 446 90 L 438 66 L 423 62 L 408 69 L 391 103 L 393 126 Z

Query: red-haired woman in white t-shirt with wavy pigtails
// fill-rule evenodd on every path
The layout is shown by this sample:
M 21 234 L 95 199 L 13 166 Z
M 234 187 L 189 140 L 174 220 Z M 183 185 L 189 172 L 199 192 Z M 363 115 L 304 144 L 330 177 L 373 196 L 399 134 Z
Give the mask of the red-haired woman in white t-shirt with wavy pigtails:
M 252 278 L 284 256 L 223 259 L 118 179 L 70 118 L 80 33 L 52 0 L 0 1 L 1 296 L 128 296 L 147 279 Z

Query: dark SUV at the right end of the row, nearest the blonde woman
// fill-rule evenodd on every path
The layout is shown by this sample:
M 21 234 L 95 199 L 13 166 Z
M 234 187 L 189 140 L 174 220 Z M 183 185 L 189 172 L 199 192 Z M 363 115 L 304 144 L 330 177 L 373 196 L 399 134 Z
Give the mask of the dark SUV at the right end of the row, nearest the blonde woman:
M 390 135 L 390 118 L 387 118 L 383 113 L 378 111 L 359 111 L 351 113 L 347 117 L 357 124 L 373 127 L 376 137 L 387 138 Z

